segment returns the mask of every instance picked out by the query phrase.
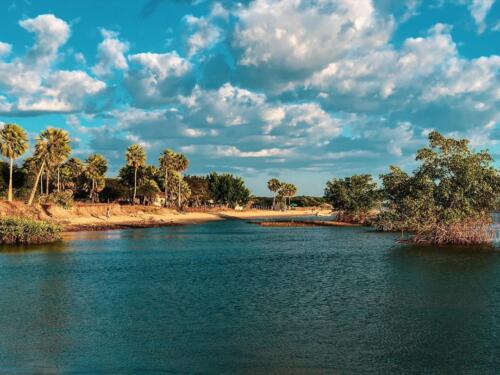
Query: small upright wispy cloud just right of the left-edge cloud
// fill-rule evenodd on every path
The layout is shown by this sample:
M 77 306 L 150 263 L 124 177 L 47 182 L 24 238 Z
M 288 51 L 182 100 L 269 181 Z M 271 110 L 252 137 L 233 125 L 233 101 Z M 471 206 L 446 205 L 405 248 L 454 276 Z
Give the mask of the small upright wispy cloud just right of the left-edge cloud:
M 97 47 L 97 64 L 92 71 L 98 76 L 110 74 L 113 69 L 128 68 L 125 53 L 129 49 L 127 42 L 118 39 L 118 33 L 106 29 L 101 30 L 103 41 Z

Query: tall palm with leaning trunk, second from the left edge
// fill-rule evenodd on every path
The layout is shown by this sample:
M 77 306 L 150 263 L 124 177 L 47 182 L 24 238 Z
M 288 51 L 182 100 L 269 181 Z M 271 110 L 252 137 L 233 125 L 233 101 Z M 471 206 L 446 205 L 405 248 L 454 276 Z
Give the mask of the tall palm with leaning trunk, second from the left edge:
M 47 128 L 42 130 L 40 135 L 37 137 L 37 143 L 35 145 L 35 153 L 33 157 L 40 164 L 40 169 L 37 174 L 35 184 L 31 190 L 31 195 L 28 200 L 28 204 L 33 204 L 35 199 L 36 189 L 38 181 L 45 169 L 47 185 L 46 194 L 49 194 L 50 187 L 50 170 L 54 166 L 60 165 L 64 160 L 68 158 L 71 154 L 70 138 L 68 132 L 63 129 Z

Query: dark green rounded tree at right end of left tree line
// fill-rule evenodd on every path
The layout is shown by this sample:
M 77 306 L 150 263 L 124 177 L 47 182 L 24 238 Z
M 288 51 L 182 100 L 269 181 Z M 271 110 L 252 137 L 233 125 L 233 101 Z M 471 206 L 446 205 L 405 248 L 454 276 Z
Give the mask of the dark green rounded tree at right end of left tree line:
M 212 199 L 226 206 L 245 205 L 250 200 L 250 190 L 245 182 L 229 173 L 217 174 L 212 172 L 207 177 L 208 190 Z

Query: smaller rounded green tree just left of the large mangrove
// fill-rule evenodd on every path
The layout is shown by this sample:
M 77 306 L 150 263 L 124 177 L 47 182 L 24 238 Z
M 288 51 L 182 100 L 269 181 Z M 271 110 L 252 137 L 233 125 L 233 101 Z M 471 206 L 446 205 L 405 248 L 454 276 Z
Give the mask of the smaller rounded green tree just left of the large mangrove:
M 325 198 L 339 211 L 341 220 L 348 215 L 351 220 L 364 222 L 368 212 L 380 204 L 381 194 L 372 176 L 354 175 L 328 181 Z

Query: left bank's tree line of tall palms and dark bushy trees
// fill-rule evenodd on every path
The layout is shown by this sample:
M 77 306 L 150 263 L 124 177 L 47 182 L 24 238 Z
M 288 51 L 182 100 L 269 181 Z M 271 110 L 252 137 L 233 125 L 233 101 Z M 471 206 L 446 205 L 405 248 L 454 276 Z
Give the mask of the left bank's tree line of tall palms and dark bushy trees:
M 187 204 L 201 206 L 245 205 L 251 193 L 244 181 L 231 174 L 184 176 L 189 160 L 182 153 L 164 150 L 158 166 L 148 165 L 146 150 L 132 144 L 125 152 L 126 164 L 117 178 L 107 178 L 108 162 L 103 155 L 91 154 L 85 160 L 71 155 L 71 139 L 63 129 L 47 128 L 37 136 L 33 154 L 21 167 L 15 165 L 29 149 L 28 135 L 17 124 L 0 129 L 0 152 L 8 159 L 7 200 L 25 199 L 69 206 L 73 199 L 91 202 L 126 201 L 149 204 L 163 194 L 162 204 L 181 208 Z M 37 199 L 38 198 L 38 199 Z

